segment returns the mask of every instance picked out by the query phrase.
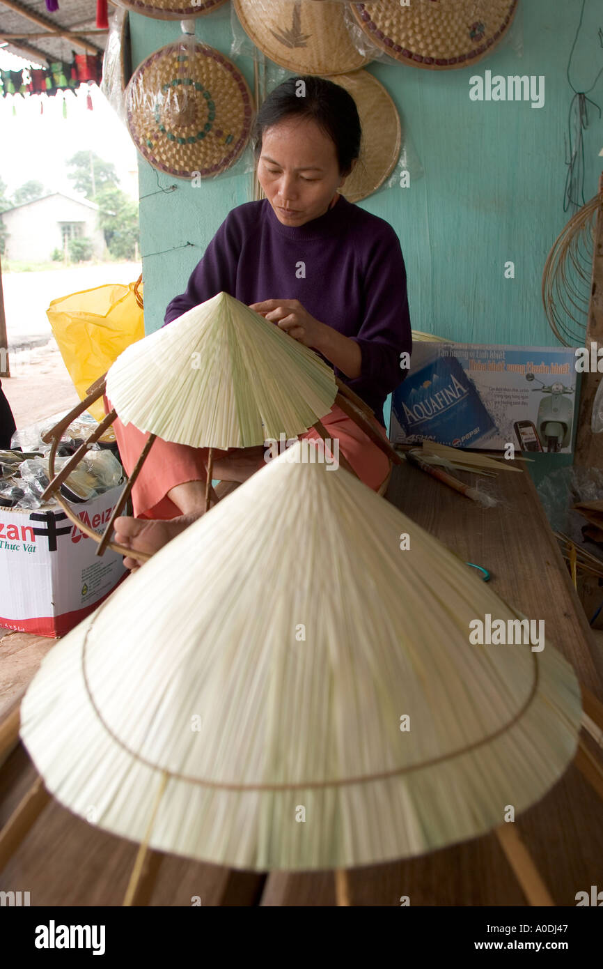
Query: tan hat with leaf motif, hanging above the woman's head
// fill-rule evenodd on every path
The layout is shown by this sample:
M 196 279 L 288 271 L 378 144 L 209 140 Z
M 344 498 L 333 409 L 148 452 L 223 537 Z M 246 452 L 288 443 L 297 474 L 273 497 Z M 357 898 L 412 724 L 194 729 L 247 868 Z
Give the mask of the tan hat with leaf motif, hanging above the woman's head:
M 295 74 L 357 71 L 370 57 L 358 52 L 344 6 L 332 0 L 233 0 L 243 30 L 266 57 Z

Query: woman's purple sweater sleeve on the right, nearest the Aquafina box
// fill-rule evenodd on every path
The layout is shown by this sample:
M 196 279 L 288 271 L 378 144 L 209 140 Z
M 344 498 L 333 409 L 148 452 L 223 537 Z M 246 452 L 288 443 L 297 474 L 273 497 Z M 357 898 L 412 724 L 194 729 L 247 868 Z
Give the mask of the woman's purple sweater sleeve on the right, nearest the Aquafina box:
M 362 325 L 350 339 L 362 352 L 360 377 L 349 381 L 360 396 L 366 388 L 385 398 L 407 376 L 400 355 L 410 354 L 412 335 L 407 297 L 407 270 L 400 239 L 391 227 L 378 234 L 364 270 Z

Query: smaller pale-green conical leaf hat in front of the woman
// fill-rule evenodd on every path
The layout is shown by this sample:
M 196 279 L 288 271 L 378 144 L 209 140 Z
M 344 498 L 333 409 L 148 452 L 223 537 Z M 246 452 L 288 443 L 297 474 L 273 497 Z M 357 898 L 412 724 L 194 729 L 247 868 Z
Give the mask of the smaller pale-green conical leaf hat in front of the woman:
M 303 434 L 328 414 L 337 385 L 313 350 L 219 293 L 129 346 L 106 393 L 123 423 L 226 449 Z

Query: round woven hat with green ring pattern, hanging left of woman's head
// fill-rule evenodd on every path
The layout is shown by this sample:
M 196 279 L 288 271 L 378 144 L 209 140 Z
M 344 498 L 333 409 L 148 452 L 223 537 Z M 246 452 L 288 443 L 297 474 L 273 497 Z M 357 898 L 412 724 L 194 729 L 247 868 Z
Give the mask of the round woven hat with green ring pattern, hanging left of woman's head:
M 140 64 L 126 91 L 128 127 L 140 154 L 177 178 L 225 172 L 249 140 L 252 93 L 214 47 L 182 41 Z

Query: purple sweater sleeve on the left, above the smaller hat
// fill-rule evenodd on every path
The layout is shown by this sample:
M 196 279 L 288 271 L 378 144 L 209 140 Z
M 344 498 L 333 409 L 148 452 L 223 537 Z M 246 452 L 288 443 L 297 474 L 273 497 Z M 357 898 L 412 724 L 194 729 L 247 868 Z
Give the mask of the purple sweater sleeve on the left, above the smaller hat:
M 164 326 L 219 293 L 234 296 L 241 244 L 240 227 L 229 213 L 193 269 L 186 291 L 168 302 Z

